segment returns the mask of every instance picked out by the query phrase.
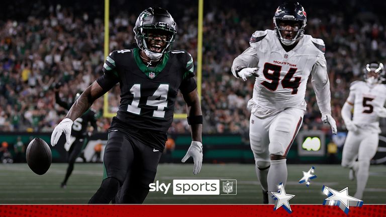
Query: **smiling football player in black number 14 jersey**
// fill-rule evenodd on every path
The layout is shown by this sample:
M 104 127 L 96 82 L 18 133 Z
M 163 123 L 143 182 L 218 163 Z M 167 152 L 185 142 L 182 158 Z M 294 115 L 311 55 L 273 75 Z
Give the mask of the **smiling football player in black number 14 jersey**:
M 165 9 L 149 8 L 139 15 L 134 33 L 139 48 L 111 52 L 104 75 L 84 90 L 51 136 L 51 145 L 63 132 L 68 139 L 73 121 L 95 99 L 120 84 L 121 105 L 109 129 L 104 179 L 89 203 L 109 203 L 119 190 L 117 203 L 144 201 L 173 121 L 178 90 L 187 104 L 192 138 L 182 162 L 192 157 L 193 173 L 201 170 L 203 116 L 193 59 L 186 51 L 171 50 L 176 24 Z

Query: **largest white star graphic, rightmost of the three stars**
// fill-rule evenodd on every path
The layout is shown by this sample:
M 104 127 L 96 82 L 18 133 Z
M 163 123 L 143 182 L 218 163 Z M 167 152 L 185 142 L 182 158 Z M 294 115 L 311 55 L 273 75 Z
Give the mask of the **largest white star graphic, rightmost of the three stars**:
M 334 190 L 327 186 L 323 186 L 323 193 L 325 193 L 328 198 L 323 202 L 323 205 L 337 205 L 339 206 L 346 214 L 348 214 L 349 206 L 362 206 L 363 201 L 348 195 L 348 187 L 344 188 L 341 191 Z

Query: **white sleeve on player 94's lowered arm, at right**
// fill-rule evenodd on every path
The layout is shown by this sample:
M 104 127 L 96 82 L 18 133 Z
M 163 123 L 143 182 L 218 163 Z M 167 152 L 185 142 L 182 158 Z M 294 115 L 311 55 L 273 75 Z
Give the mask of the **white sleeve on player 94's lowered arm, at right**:
M 330 80 L 327 74 L 327 63 L 322 54 L 311 71 L 311 82 L 315 90 L 316 101 L 322 114 L 331 114 Z

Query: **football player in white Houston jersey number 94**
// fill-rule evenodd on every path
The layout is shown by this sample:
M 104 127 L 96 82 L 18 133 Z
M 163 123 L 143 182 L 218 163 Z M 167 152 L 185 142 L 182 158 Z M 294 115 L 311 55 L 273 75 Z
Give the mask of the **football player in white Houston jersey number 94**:
M 286 155 L 303 122 L 310 75 L 322 120 L 336 133 L 323 40 L 304 34 L 307 14 L 299 3 L 280 5 L 273 23 L 274 30 L 253 33 L 250 47 L 232 65 L 237 78 L 256 76 L 248 102 L 249 138 L 263 203 L 274 203 L 267 192 L 277 192 L 287 180 Z

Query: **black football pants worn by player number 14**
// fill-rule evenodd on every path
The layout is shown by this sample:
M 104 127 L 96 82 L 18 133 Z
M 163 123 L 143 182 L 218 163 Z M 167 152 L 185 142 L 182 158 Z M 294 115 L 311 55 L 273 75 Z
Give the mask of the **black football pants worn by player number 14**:
M 161 155 L 160 150 L 136 139 L 135 133 L 111 131 L 104 154 L 104 180 L 88 203 L 110 203 L 113 199 L 115 203 L 142 203 L 154 182 Z

